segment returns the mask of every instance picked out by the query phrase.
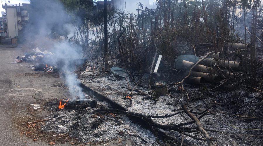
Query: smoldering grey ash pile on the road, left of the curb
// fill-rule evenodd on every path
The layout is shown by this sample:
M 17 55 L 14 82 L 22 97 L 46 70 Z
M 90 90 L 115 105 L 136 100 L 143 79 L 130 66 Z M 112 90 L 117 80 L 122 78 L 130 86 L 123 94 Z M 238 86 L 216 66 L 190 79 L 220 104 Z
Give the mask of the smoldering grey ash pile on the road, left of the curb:
M 136 136 L 125 133 L 119 135 L 120 133 L 117 132 L 127 131 L 134 135 L 140 135 L 149 145 L 158 145 L 156 137 L 150 131 L 134 124 L 127 116 L 94 113 L 97 109 L 110 108 L 111 106 L 101 101 L 96 101 L 96 104 L 92 105 L 92 102 L 94 103 L 94 100 L 89 99 L 71 101 L 71 103 L 69 101 L 68 105 L 70 106 L 66 105 L 64 109 L 58 109 L 58 100 L 47 103 L 46 106 L 54 113 L 54 116 L 47 117 L 52 120 L 46 121 L 42 126 L 42 131 L 58 134 L 68 133 L 72 138 L 89 143 L 103 143 L 121 138 L 122 140 L 130 140 L 132 145 L 147 144 Z M 86 104 L 89 106 L 76 108 Z M 72 105 L 76 106 L 72 107 Z

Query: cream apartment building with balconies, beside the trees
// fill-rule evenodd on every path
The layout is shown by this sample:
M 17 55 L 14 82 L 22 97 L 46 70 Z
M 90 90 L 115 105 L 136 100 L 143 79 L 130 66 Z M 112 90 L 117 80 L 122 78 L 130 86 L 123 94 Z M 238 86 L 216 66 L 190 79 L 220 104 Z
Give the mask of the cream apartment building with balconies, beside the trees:
M 6 17 L 7 35 L 8 38 L 17 37 L 25 28 L 25 25 L 29 21 L 28 9 L 30 4 L 5 4 L 2 8 L 6 12 L 2 13 Z

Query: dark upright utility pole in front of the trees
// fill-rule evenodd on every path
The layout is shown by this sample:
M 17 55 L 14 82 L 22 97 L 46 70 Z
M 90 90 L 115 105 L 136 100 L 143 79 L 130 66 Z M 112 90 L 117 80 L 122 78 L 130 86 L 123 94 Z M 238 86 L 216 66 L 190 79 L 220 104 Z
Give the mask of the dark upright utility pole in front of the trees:
M 107 24 L 107 0 L 104 0 L 104 63 L 108 69 L 108 24 Z

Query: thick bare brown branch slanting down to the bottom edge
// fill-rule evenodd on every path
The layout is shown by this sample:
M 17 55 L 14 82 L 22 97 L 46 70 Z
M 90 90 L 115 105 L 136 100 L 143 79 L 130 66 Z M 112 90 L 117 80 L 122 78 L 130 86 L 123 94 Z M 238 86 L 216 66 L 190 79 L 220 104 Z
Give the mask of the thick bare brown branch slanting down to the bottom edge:
M 200 121 L 197 119 L 197 117 L 195 117 L 187 108 L 185 105 L 182 105 L 182 108 L 184 110 L 184 112 L 192 119 L 195 121 L 196 126 L 199 128 L 199 130 L 201 131 L 201 133 L 205 136 L 205 139 L 207 141 L 207 145 L 212 146 L 212 138 L 207 134 L 207 132 L 204 130 L 204 128 L 202 127 Z

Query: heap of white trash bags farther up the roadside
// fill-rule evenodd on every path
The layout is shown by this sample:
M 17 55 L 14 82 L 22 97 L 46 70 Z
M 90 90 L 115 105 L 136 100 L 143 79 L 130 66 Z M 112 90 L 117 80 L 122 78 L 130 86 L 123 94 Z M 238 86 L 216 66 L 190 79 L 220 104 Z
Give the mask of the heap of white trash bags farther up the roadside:
M 21 63 L 21 62 L 41 62 L 43 58 L 48 57 L 50 55 L 54 55 L 53 53 L 49 51 L 40 51 L 39 48 L 32 49 L 32 52 L 30 53 L 24 53 L 24 56 L 21 58 L 18 56 L 15 58 L 15 63 Z

